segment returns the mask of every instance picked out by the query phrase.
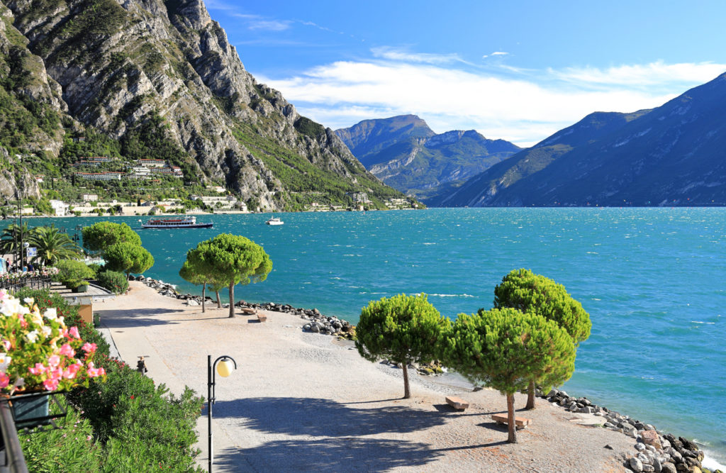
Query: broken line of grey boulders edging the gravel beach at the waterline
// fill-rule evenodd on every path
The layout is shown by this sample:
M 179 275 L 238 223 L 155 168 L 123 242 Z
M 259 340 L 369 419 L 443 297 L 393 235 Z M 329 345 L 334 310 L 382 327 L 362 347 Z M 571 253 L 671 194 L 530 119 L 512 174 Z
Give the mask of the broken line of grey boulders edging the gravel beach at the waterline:
M 143 282 L 146 286 L 155 289 L 160 295 L 174 297 L 186 301 L 188 305 L 202 304 L 201 296 L 192 294 L 179 294 L 176 287 L 172 284 L 163 283 L 158 280 L 144 278 L 139 276 L 135 278 Z M 207 297 L 209 303 L 215 303 L 210 297 Z M 355 339 L 355 326 L 348 323 L 347 320 L 335 317 L 326 317 L 317 309 L 303 309 L 292 307 L 289 304 L 275 304 L 267 302 L 266 304 L 253 304 L 245 301 L 238 301 L 234 304 L 237 307 L 248 307 L 251 309 L 268 310 L 273 312 L 284 312 L 291 315 L 298 315 L 305 320 L 301 328 L 303 331 L 311 333 L 320 333 L 323 335 L 338 336 L 339 339 Z M 223 304 L 229 307 L 229 304 Z M 388 362 L 392 366 L 395 363 Z M 400 368 L 400 367 L 399 367 Z M 443 373 L 445 368 L 436 363 L 431 365 L 417 366 L 412 365 L 411 368 L 417 369 L 422 375 L 436 375 Z M 633 472 L 655 472 L 655 473 L 723 473 L 717 469 L 713 472 L 703 468 L 703 451 L 698 445 L 684 437 L 676 437 L 674 434 L 664 433 L 656 429 L 651 424 L 632 419 L 630 416 L 624 416 L 620 413 L 610 411 L 608 408 L 598 406 L 590 402 L 587 397 L 569 396 L 566 392 L 552 389 L 550 392 L 537 392 L 542 397 L 552 403 L 558 405 L 566 411 L 572 413 L 591 414 L 592 416 L 601 417 L 602 424 L 605 429 L 611 429 L 621 434 L 631 437 L 635 442 L 633 450 L 627 452 L 623 456 L 623 465 L 631 469 Z M 607 447 L 606 447 L 607 448 Z

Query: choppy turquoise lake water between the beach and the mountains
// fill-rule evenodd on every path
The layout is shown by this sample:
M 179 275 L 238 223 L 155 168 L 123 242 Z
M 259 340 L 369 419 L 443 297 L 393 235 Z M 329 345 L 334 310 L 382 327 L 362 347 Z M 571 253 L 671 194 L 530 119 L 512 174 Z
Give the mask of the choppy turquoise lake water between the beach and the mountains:
M 237 299 L 317 307 L 351 322 L 383 296 L 425 292 L 449 318 L 489 309 L 525 267 L 566 286 L 592 320 L 570 395 L 696 438 L 726 464 L 726 209 L 429 209 L 200 216 L 212 229 L 140 230 L 145 275 L 179 285 L 186 251 L 218 233 L 264 246 L 273 271 Z M 29 219 L 73 228 L 99 219 Z

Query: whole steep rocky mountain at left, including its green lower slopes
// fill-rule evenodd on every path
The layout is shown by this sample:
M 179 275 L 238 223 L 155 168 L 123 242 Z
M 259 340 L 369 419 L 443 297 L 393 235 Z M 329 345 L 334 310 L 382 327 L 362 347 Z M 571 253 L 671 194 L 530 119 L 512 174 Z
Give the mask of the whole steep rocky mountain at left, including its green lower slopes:
M 221 184 L 261 209 L 401 197 L 258 84 L 201 0 L 12 0 L 0 17 L 0 144 L 27 181 L 0 177 L 5 196 L 102 153 L 168 160 L 187 188 Z

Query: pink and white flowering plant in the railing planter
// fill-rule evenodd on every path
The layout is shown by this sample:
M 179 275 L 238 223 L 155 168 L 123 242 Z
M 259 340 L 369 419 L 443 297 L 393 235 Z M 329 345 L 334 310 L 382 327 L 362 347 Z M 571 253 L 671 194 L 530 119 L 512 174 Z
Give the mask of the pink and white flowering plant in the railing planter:
M 66 327 L 54 308 L 41 315 L 33 299 L 0 289 L 0 392 L 55 391 L 88 387 L 105 369 L 94 366 L 97 345 Z

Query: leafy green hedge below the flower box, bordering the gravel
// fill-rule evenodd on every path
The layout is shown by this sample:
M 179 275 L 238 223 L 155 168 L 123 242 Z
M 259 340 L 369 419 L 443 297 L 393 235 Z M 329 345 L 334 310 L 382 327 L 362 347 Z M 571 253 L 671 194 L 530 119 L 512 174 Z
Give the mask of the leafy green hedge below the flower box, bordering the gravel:
M 67 395 L 68 416 L 62 429 L 21 433 L 30 472 L 202 472 L 195 464 L 199 450 L 195 427 L 203 398 L 185 387 L 180 397 L 166 386 L 142 376 L 108 356 L 101 334 L 83 323 L 78 310 L 48 291 L 23 289 L 17 297 L 33 297 L 41 312 L 55 307 L 81 338 L 97 344 L 97 365 L 107 380 L 91 381 L 88 389 Z

